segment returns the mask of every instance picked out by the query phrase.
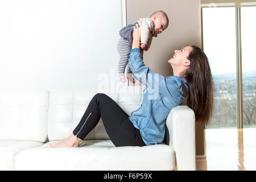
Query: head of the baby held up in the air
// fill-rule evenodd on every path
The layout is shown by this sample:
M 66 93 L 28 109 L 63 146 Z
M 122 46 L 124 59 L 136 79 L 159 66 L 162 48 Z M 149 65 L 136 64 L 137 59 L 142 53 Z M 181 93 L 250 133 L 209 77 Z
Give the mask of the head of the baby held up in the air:
M 155 24 L 156 34 L 161 34 L 162 31 L 166 30 L 169 24 L 169 19 L 166 13 L 163 11 L 155 11 L 150 15 L 150 19 Z

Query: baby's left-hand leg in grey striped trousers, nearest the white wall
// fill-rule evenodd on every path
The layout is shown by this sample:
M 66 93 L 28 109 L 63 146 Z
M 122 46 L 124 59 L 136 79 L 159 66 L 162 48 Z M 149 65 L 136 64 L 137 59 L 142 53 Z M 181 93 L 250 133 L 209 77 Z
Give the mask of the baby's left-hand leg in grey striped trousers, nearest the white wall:
M 119 53 L 119 62 L 118 62 L 118 76 L 120 81 L 125 82 L 125 67 L 128 64 L 129 56 L 127 53 L 131 51 L 130 43 L 120 38 L 117 44 L 117 50 Z

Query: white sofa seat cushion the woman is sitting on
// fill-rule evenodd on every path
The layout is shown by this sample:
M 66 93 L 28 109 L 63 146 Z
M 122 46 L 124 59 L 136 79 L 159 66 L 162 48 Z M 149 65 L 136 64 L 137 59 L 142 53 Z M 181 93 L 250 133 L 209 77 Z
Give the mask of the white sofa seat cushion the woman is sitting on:
M 111 140 L 83 140 L 80 147 L 46 148 L 49 143 L 19 152 L 15 160 L 16 170 L 101 171 L 175 168 L 174 148 L 164 143 L 144 147 L 115 147 Z

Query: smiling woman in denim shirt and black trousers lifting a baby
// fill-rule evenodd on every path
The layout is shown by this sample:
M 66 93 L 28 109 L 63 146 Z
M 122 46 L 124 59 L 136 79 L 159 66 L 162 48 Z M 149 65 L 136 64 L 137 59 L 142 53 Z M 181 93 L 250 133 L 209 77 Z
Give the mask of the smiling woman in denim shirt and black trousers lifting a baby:
M 98 93 L 90 101 L 73 134 L 48 147 L 79 147 L 79 142 L 97 125 L 100 117 L 109 138 L 117 147 L 161 143 L 168 114 L 187 95 L 187 105 L 195 112 L 196 121 L 209 122 L 212 114 L 213 81 L 205 53 L 196 46 L 175 50 L 174 56 L 168 60 L 174 76 L 164 78 L 143 64 L 140 40 L 141 28 L 136 25 L 129 64 L 134 76 L 147 85 L 141 107 L 129 117 L 112 98 Z

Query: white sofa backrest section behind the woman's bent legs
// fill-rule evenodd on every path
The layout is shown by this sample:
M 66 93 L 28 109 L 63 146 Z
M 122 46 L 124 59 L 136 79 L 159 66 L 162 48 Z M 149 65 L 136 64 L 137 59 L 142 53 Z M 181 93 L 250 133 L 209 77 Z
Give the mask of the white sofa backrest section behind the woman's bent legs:
M 128 114 L 142 103 L 143 86 L 49 90 L 48 139 L 60 140 L 72 134 L 96 93 L 105 93 Z M 85 139 L 109 139 L 102 119 Z

